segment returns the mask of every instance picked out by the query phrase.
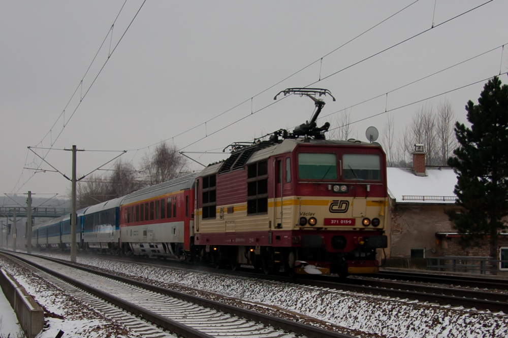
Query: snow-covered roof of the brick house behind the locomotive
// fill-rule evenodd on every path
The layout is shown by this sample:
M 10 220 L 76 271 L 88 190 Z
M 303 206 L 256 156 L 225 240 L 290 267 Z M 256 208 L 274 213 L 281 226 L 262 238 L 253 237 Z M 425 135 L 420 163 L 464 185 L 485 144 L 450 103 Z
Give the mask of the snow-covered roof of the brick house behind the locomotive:
M 388 193 L 397 203 L 454 204 L 457 175 L 448 167 L 429 168 L 416 176 L 412 168 L 387 168 Z

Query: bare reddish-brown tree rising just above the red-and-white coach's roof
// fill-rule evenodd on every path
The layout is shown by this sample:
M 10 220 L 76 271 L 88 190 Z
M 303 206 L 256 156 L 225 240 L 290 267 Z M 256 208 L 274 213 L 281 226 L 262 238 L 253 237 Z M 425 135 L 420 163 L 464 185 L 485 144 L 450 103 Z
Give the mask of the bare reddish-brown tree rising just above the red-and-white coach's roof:
M 155 147 L 151 156 L 145 155 L 142 163 L 146 180 L 154 185 L 180 176 L 187 165 L 187 159 L 178 153 L 175 146 L 170 147 L 163 142 Z

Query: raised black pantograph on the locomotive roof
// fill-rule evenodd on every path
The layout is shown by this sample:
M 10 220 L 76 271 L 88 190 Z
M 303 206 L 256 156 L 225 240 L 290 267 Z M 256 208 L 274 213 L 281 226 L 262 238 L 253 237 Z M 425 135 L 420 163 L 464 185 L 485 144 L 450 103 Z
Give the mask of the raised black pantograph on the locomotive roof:
M 326 96 L 328 94 L 332 96 L 332 99 L 335 101 L 335 97 L 333 97 L 332 93 L 328 89 L 322 88 L 288 88 L 280 91 L 277 95 L 275 95 L 273 99 L 276 100 L 277 96 L 281 93 L 283 93 L 284 96 L 288 94 L 308 96 L 314 101 L 314 104 L 317 108 L 315 113 L 312 115 L 310 121 L 307 121 L 306 123 L 300 124 L 298 127 L 296 127 L 295 130 L 293 130 L 293 132 L 291 133 L 291 137 L 298 138 L 300 136 L 303 136 L 305 138 L 313 137 L 316 140 L 324 140 L 325 132 L 328 131 L 330 123 L 326 122 L 321 128 L 317 127 L 315 121 L 317 120 L 317 116 L 319 116 L 321 110 L 325 106 L 325 102 L 320 98 L 316 98 L 316 96 L 317 95 Z

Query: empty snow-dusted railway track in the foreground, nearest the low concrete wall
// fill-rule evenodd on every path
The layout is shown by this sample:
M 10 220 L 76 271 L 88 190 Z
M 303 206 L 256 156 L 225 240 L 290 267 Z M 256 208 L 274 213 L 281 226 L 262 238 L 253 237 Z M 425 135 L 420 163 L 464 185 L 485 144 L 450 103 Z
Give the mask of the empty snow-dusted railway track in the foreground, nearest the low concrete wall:
M 98 272 L 52 258 L 8 253 L 112 305 L 184 337 L 351 338 L 321 328 L 275 318 L 213 300 Z M 94 297 L 94 298 L 95 298 Z M 89 301 L 92 301 L 89 299 Z M 107 305 L 97 305 L 106 309 Z M 112 307 L 112 309 L 116 309 Z M 112 315 L 122 317 L 121 313 Z M 143 328 L 149 331 L 149 328 Z M 162 334 L 162 330 L 154 334 Z M 166 333 L 167 335 L 167 333 Z M 161 335 L 163 336 L 163 335 Z

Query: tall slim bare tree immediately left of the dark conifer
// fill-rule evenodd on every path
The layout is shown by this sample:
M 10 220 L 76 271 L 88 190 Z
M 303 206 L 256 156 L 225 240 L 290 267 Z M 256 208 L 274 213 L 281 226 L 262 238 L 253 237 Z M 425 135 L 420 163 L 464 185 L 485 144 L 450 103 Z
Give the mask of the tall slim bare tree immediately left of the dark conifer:
M 437 108 L 436 137 L 439 146 L 439 164 L 448 165 L 448 158 L 457 148 L 457 139 L 454 135 L 455 112 L 452 104 L 444 100 Z

